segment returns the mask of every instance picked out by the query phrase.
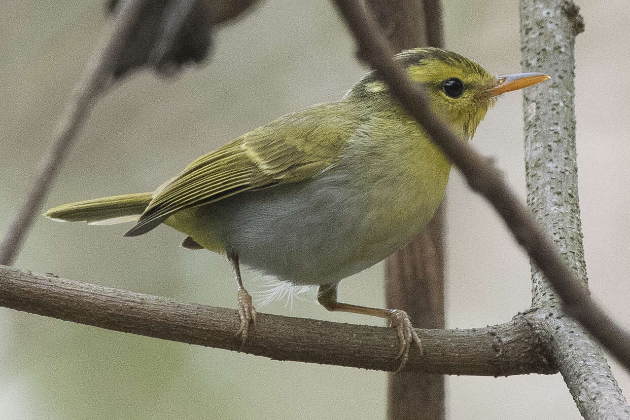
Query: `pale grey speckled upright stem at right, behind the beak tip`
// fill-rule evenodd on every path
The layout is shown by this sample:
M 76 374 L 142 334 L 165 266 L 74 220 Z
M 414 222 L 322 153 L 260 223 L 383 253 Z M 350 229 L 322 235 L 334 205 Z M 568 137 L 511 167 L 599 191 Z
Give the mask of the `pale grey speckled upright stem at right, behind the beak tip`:
M 551 75 L 551 84 L 525 89 L 527 205 L 561 257 L 587 288 L 575 147 L 573 47 L 584 24 L 570 1 L 520 2 L 523 71 Z M 532 264 L 534 324 L 586 419 L 630 418 L 607 361 L 575 320 L 563 314 L 559 297 Z

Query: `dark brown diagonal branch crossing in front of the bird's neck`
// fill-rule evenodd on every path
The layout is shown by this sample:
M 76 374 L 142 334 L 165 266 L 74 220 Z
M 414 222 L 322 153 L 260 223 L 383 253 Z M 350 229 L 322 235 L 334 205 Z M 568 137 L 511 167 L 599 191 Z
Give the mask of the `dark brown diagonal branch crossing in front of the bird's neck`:
M 520 203 L 505 183 L 491 159 L 481 156 L 439 122 L 427 105 L 423 89 L 413 84 L 401 65 L 394 61 L 391 48 L 362 3 L 358 0 L 335 0 L 335 3 L 357 38 L 361 57 L 379 72 L 394 98 L 398 99 L 445 156 L 459 168 L 469 186 L 495 207 L 518 244 L 527 251 L 562 298 L 566 312 L 578 319 L 588 332 L 599 339 L 630 370 L 630 334 L 595 304 L 573 271 L 560 258 L 553 242 L 537 225 L 527 207 Z

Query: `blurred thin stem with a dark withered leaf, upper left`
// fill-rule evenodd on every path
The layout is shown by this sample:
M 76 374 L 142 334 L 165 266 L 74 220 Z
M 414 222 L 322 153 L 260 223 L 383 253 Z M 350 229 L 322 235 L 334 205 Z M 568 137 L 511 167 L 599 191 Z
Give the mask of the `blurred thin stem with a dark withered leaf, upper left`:
M 173 74 L 202 62 L 213 25 L 243 15 L 258 0 L 110 1 L 115 20 L 93 51 L 51 136 L 25 203 L 0 244 L 0 264 L 13 264 L 59 168 L 96 100 L 123 76 L 143 68 Z

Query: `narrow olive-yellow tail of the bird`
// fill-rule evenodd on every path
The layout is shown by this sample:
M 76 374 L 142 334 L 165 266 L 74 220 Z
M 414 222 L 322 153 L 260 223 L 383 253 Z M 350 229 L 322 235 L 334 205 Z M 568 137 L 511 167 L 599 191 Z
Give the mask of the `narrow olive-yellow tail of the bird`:
M 115 195 L 60 205 L 43 215 L 57 222 L 88 222 L 91 225 L 135 222 L 152 198 L 153 193 Z

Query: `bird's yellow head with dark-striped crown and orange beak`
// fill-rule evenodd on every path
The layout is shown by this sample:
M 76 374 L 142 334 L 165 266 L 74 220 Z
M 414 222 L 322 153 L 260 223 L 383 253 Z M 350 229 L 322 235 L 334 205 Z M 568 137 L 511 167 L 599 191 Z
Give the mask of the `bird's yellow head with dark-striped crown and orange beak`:
M 440 48 L 414 48 L 396 55 L 411 80 L 423 84 L 433 110 L 466 137 L 473 134 L 502 93 L 549 79 L 542 73 L 492 76 L 481 65 Z M 347 98 L 376 106 L 392 106 L 387 86 L 375 72 L 368 73 Z M 387 98 L 389 100 L 382 101 Z

